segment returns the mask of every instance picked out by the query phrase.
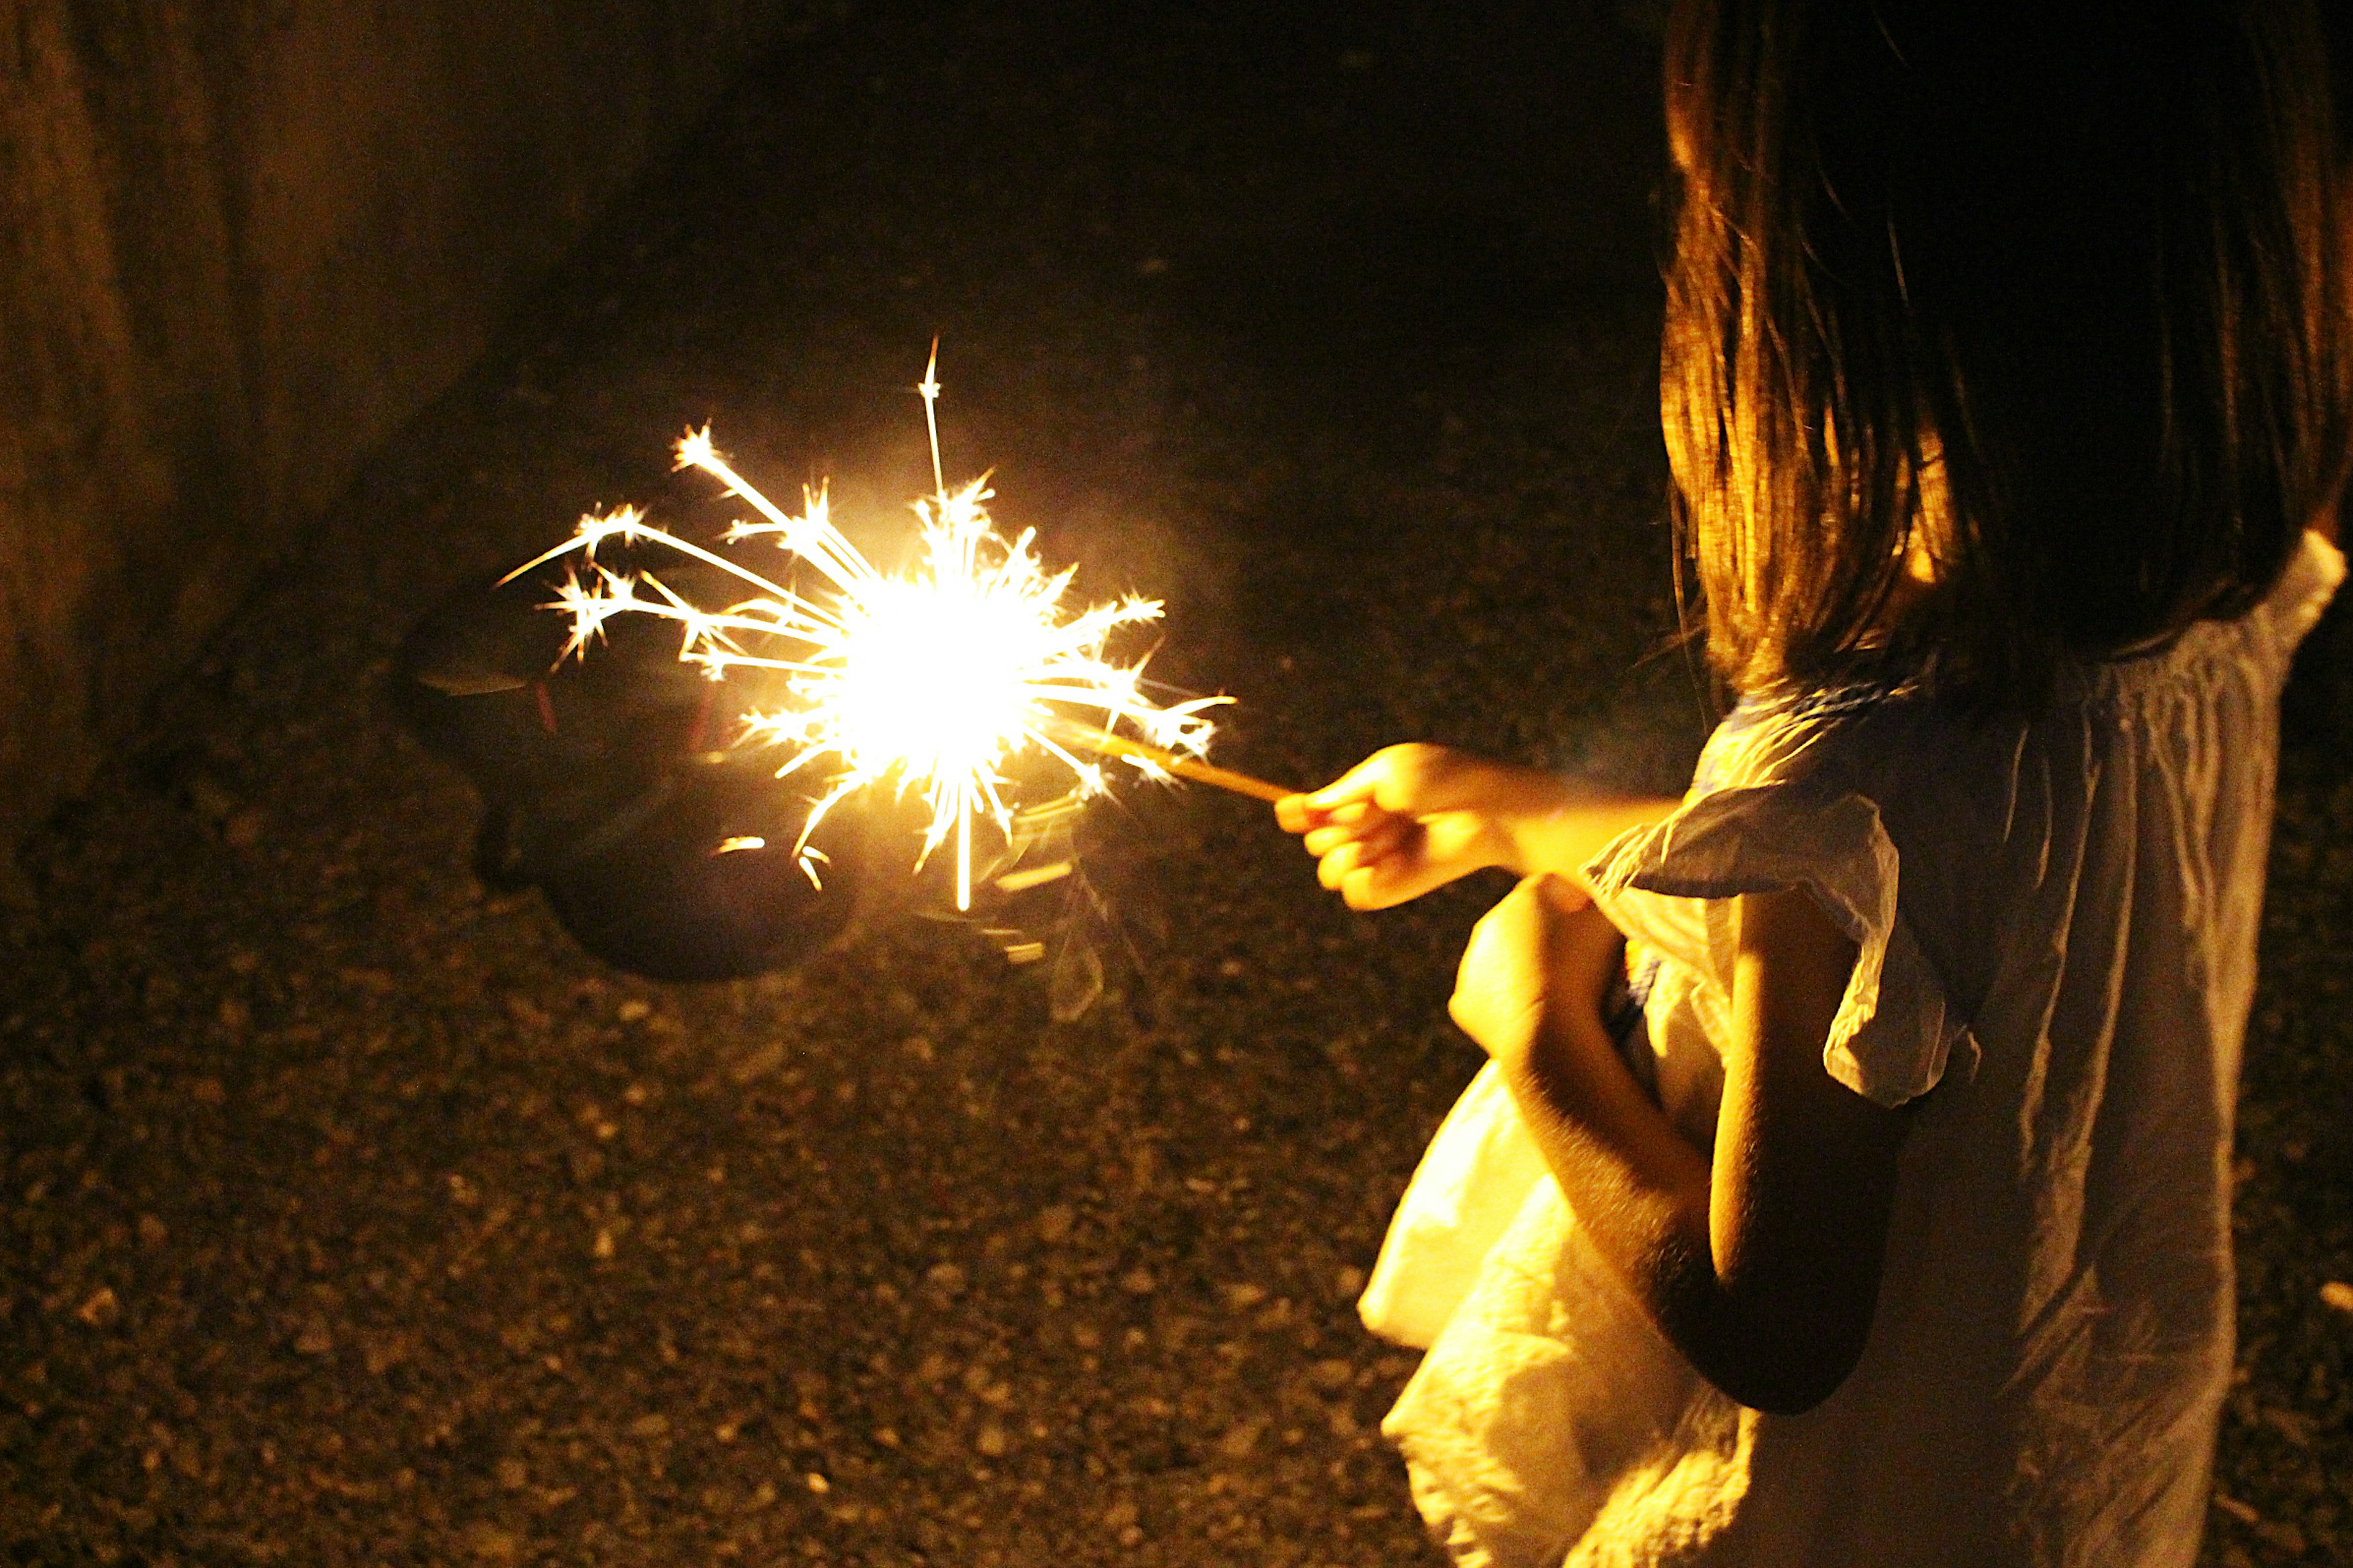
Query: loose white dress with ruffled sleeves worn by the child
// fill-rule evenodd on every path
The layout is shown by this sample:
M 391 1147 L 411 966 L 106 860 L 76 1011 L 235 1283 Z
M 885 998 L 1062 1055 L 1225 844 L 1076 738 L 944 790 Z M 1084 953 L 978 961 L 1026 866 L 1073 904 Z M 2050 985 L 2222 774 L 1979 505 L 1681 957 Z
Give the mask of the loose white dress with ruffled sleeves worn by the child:
M 1774 1417 L 1659 1337 L 1482 1071 L 1362 1300 L 1428 1347 L 1384 1431 L 1459 1563 L 2195 1561 L 2278 695 L 2341 577 L 2306 534 L 2264 605 L 2071 671 L 2035 723 L 1748 704 L 1682 810 L 1609 845 L 1591 876 L 1661 956 L 1661 1104 L 1701 1147 L 1739 892 L 1805 885 L 1847 928 L 1824 1064 L 1925 1099 L 1861 1363 Z

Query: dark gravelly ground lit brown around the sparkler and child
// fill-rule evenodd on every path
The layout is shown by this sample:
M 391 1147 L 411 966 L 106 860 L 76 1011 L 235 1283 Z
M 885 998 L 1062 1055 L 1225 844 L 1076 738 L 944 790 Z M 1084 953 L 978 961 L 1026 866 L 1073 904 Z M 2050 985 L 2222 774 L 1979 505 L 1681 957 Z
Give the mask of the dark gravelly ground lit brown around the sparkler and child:
M 393 702 L 402 633 L 581 509 L 725 520 L 687 421 L 889 516 L 939 332 L 951 469 L 1167 600 L 1221 760 L 1673 784 L 1652 45 L 1419 9 L 842 9 L 367 469 L 26 850 L 14 1561 L 1435 1563 L 1351 1295 L 1475 1067 L 1494 885 L 1351 916 L 1261 808 L 1134 789 L 1078 1019 L 889 876 L 793 972 L 654 984 L 471 873 Z M 2353 1561 L 2334 758 L 2282 791 L 2217 1563 Z

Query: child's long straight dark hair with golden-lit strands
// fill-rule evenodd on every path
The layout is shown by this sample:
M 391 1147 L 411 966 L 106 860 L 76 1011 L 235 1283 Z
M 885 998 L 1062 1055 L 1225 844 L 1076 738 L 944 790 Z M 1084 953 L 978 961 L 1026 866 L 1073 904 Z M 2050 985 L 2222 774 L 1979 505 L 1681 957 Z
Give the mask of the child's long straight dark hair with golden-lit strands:
M 1666 94 L 1661 412 L 1734 690 L 2033 709 L 2278 579 L 2353 412 L 2308 0 L 1680 0 Z

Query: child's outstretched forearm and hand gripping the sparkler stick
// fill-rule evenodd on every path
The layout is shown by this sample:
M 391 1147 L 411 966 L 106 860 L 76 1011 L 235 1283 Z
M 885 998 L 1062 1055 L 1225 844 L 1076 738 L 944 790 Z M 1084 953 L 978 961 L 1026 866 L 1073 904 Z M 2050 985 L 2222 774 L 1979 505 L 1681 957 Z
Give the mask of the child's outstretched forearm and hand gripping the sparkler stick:
M 1306 833 L 1315 876 L 1351 909 L 1388 909 L 1471 871 L 1579 881 L 1612 838 L 1680 800 L 1494 763 L 1449 746 L 1386 746 L 1311 796 L 1275 805 Z

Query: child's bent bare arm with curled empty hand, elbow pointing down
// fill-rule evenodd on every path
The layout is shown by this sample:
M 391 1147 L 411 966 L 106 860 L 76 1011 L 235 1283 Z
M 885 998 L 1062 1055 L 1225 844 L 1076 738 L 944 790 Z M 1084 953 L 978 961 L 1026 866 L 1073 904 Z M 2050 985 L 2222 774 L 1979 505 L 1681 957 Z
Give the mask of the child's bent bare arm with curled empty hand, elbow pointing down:
M 1800 1413 L 1864 1351 L 1908 1118 L 1821 1067 L 1854 944 L 1802 890 L 1739 904 L 1713 1161 L 1602 1031 L 1617 932 L 1560 883 L 1529 878 L 1480 921 L 1452 1010 L 1659 1330 L 1739 1403 Z

